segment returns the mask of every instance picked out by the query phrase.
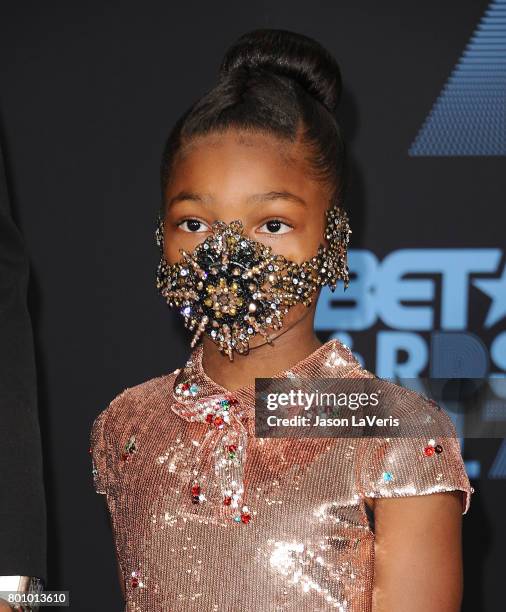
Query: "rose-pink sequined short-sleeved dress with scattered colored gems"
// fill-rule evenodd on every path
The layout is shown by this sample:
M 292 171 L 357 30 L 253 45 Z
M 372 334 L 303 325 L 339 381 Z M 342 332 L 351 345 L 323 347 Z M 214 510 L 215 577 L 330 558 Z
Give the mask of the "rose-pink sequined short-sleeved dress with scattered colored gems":
M 374 377 L 331 340 L 276 377 Z M 371 610 L 367 497 L 471 494 L 451 419 L 438 439 L 259 439 L 254 387 L 228 392 L 202 345 L 175 372 L 127 388 L 95 419 L 95 490 L 106 496 L 128 612 Z M 221 420 L 220 420 L 221 419 Z

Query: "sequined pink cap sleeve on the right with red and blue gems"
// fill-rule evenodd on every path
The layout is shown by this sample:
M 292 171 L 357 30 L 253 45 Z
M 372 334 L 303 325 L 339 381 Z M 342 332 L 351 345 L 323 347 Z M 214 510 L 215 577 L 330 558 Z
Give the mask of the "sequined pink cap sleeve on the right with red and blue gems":
M 441 435 L 370 438 L 359 476 L 361 494 L 406 497 L 460 490 L 464 492 L 462 514 L 466 514 L 474 489 L 453 422 L 435 402 L 425 402 L 422 410 L 436 424 L 432 431 Z

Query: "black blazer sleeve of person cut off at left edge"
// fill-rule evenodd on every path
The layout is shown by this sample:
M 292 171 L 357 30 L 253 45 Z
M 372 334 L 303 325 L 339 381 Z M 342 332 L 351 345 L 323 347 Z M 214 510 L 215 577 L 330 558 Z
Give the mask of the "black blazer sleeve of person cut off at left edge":
M 0 576 L 46 576 L 46 505 L 29 265 L 0 148 Z

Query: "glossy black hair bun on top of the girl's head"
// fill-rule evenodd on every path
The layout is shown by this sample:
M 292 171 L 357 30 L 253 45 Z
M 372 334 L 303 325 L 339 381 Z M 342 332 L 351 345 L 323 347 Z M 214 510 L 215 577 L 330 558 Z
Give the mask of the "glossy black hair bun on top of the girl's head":
M 258 29 L 243 34 L 229 49 L 220 75 L 263 69 L 297 81 L 335 113 L 342 80 L 337 61 L 320 43 L 288 30 Z

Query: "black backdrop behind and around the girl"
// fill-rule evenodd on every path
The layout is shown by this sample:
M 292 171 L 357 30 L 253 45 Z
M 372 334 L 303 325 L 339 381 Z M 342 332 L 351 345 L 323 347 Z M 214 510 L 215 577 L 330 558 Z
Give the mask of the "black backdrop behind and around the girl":
M 435 132 L 425 139 L 432 149 L 419 155 L 423 147 L 413 148 L 491 7 L 500 26 L 506 18 L 500 0 L 2 5 L 1 140 L 31 261 L 49 588 L 70 590 L 73 610 L 121 609 L 108 518 L 91 485 L 91 422 L 118 392 L 172 371 L 188 352 L 176 315 L 154 288 L 158 166 L 173 122 L 213 84 L 224 50 L 243 32 L 280 27 L 313 36 L 334 53 L 344 78 L 339 120 L 353 156 L 352 255 L 370 253 L 381 262 L 400 249 L 459 248 L 473 259 L 488 249 L 498 263 L 483 278 L 497 279 L 506 246 L 500 71 L 499 111 L 460 90 L 464 105 L 472 102 L 478 112 L 481 104 L 483 121 L 495 121 L 495 140 L 485 129 L 466 138 L 466 115 L 449 104 L 444 125 L 441 113 L 434 116 Z M 460 134 L 449 152 L 446 130 L 454 140 Z M 443 329 L 440 275 L 427 273 L 437 288 L 434 322 L 415 332 L 426 347 Z M 466 300 L 461 329 L 494 346 L 499 363 L 490 369 L 497 373 L 505 370 L 506 319 L 495 287 L 495 321 L 488 326 L 494 296 L 477 286 L 454 296 L 454 307 Z M 395 325 L 378 320 L 350 329 L 337 308 L 332 328 L 328 316 L 319 327 L 322 339 L 349 332 L 372 370 L 382 363 L 385 330 Z M 465 441 L 476 493 L 464 517 L 464 610 L 504 609 L 500 445 Z

